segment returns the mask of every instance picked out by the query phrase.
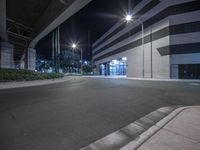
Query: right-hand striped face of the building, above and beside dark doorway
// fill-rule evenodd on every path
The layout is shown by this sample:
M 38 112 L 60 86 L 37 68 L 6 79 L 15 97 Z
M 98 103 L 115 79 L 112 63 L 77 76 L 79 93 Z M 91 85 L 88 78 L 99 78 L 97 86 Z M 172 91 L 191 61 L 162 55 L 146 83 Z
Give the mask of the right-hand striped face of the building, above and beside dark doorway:
M 170 17 L 171 78 L 178 77 L 181 64 L 200 64 L 200 10 Z M 177 25 L 178 24 L 178 25 Z

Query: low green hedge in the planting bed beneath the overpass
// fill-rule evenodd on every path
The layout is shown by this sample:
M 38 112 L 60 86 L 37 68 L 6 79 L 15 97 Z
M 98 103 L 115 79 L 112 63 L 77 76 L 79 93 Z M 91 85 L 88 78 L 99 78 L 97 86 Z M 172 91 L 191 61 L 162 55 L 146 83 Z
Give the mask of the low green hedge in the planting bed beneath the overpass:
M 30 81 L 61 78 L 61 73 L 36 73 L 30 70 L 0 69 L 0 81 Z

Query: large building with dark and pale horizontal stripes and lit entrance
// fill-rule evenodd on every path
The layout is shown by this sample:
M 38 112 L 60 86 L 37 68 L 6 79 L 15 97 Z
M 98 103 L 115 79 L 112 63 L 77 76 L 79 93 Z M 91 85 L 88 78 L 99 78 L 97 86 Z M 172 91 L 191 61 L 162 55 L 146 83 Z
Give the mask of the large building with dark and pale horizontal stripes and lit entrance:
M 132 2 L 133 21 L 92 45 L 99 74 L 200 79 L 200 0 Z

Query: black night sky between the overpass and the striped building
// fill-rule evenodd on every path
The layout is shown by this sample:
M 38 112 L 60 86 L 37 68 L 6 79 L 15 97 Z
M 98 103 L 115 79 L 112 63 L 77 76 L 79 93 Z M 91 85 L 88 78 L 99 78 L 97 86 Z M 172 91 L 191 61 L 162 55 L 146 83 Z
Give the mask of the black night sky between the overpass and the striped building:
M 93 0 L 60 26 L 61 50 L 72 42 L 83 48 L 83 58 L 91 60 L 91 44 L 120 21 L 128 10 L 128 0 Z M 51 59 L 51 33 L 36 46 L 37 53 Z

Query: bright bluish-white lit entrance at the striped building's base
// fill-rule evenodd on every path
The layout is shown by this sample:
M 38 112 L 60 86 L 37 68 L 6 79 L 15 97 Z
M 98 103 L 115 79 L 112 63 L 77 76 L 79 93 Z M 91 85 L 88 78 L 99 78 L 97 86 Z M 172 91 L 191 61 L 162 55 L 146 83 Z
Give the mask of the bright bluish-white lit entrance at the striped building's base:
M 100 65 L 100 75 L 126 75 L 127 58 L 123 57 L 117 60 L 112 60 L 110 62 Z

